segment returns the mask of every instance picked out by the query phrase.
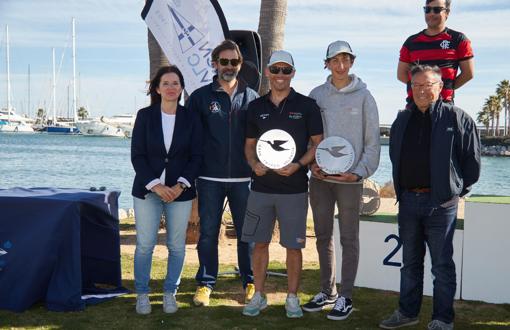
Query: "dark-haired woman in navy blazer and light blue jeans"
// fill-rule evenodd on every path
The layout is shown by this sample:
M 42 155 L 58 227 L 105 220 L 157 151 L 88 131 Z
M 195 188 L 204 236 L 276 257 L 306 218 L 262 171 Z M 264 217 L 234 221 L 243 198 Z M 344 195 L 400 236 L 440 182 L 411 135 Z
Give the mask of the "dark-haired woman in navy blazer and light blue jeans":
M 149 314 L 152 252 L 159 223 L 166 218 L 167 274 L 163 310 L 175 313 L 186 251 L 186 230 L 195 198 L 195 179 L 202 161 L 202 126 L 198 116 L 179 105 L 184 79 L 176 66 L 162 67 L 152 79 L 151 105 L 138 111 L 131 140 L 135 170 L 136 312 Z

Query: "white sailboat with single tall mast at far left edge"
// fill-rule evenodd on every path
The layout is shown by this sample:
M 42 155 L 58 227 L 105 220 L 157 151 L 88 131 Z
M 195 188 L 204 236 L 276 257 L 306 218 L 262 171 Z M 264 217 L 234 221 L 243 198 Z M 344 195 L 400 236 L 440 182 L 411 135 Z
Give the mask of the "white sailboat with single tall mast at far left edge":
M 7 61 L 7 108 L 0 111 L 0 132 L 33 133 L 34 129 L 24 120 L 24 117 L 14 113 L 11 106 L 11 72 L 9 54 L 9 26 L 5 26 L 6 36 L 6 61 Z

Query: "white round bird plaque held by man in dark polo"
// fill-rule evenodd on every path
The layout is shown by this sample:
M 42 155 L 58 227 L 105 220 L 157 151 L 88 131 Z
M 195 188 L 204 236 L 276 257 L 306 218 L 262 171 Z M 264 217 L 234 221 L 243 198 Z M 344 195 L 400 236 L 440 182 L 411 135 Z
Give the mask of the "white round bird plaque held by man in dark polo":
M 296 155 L 296 143 L 289 133 L 281 129 L 272 129 L 257 141 L 257 157 L 270 169 L 279 169 L 289 165 Z

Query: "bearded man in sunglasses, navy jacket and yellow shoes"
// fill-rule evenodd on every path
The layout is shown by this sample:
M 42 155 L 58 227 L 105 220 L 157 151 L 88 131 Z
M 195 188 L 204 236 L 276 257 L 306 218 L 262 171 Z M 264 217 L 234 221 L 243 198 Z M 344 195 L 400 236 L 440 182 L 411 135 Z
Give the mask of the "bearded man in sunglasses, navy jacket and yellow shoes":
M 223 205 L 228 199 L 237 234 L 237 260 L 245 298 L 255 293 L 251 269 L 251 245 L 241 241 L 249 194 L 251 168 L 244 157 L 246 110 L 257 92 L 237 79 L 243 57 L 237 44 L 225 40 L 211 54 L 217 75 L 212 83 L 193 92 L 188 108 L 200 115 L 204 157 L 197 180 L 200 238 L 196 274 L 198 284 L 193 302 L 209 305 L 218 276 L 218 235 Z

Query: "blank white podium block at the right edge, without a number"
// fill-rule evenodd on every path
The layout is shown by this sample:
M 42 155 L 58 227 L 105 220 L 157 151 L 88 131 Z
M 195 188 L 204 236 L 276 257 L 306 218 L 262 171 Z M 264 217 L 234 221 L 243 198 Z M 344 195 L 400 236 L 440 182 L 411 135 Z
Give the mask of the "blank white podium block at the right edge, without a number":
M 462 299 L 510 303 L 510 204 L 468 199 L 465 214 Z

